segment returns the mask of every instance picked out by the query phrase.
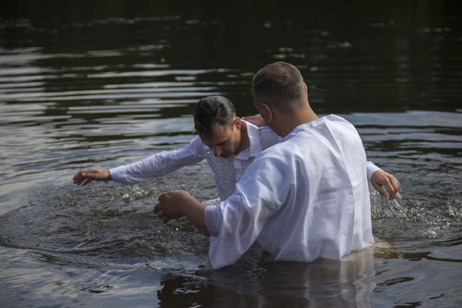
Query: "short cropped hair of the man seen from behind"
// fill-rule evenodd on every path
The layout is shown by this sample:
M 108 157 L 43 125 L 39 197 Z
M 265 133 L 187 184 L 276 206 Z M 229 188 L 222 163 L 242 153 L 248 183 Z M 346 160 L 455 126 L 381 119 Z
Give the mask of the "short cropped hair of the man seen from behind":
M 307 97 L 300 71 L 286 62 L 270 63 L 252 79 L 252 95 L 280 112 L 295 112 Z

